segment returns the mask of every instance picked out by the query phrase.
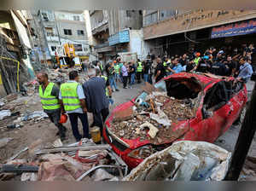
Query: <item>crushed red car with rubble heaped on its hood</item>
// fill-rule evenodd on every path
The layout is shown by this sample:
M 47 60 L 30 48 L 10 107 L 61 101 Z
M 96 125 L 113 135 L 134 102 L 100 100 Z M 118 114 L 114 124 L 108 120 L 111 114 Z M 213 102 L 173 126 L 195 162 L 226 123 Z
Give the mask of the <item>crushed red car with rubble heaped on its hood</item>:
M 141 137 L 125 138 L 114 133 L 117 128 L 117 125 L 113 125 L 114 115 L 134 107 L 136 99 L 115 107 L 106 120 L 103 136 L 112 146 L 113 151 L 119 154 L 131 168 L 139 165 L 151 153 L 170 146 L 172 142 L 181 140 L 214 142 L 230 128 L 241 113 L 245 113 L 246 86 L 241 82 L 235 82 L 235 78 L 232 77 L 181 72 L 164 78 L 154 84 L 154 87 L 165 90 L 167 96 L 172 97 L 171 101 L 190 102 L 189 112 L 195 111 L 195 113 L 192 117 L 190 115 L 190 119 L 172 119 L 171 128 L 168 130 L 159 128 L 156 138 L 152 139 L 148 136 L 142 140 Z M 161 106 L 161 110 L 166 111 L 167 108 L 167 114 L 176 113 L 177 116 L 186 116 L 189 113 L 173 107 L 174 105 L 170 102 L 168 104 L 167 101 Z M 131 137 L 133 137 L 132 133 Z

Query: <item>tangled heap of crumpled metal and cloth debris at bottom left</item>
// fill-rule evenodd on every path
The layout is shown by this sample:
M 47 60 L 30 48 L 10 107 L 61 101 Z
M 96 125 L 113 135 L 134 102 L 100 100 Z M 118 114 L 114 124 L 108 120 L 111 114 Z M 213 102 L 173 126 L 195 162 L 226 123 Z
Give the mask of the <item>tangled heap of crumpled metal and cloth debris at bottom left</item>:
M 53 145 L 35 142 L 16 154 L 0 165 L 0 180 L 21 175 L 21 181 L 118 181 L 127 174 L 127 165 L 109 145 L 96 145 L 88 139 L 67 146 L 58 139 Z M 28 157 L 15 159 L 21 153 Z

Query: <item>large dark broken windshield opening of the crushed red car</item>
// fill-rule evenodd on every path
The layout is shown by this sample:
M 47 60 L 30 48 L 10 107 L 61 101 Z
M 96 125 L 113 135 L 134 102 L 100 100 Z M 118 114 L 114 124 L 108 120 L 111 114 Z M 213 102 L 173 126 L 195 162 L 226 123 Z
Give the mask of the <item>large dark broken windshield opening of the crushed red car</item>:
M 199 84 L 195 78 L 169 78 L 166 80 L 166 90 L 167 96 L 174 97 L 178 100 L 184 100 L 196 98 L 202 88 L 201 84 Z

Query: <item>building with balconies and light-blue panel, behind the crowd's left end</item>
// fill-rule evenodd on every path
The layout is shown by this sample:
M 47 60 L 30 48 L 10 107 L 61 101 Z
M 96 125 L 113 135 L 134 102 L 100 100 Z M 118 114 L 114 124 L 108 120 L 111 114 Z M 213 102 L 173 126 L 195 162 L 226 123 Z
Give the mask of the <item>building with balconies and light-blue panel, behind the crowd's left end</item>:
M 90 26 L 93 49 L 103 63 L 120 52 L 130 52 L 142 41 L 143 12 L 139 10 L 92 10 Z M 131 43 L 133 37 L 137 43 Z M 138 40 L 138 38 L 140 38 Z

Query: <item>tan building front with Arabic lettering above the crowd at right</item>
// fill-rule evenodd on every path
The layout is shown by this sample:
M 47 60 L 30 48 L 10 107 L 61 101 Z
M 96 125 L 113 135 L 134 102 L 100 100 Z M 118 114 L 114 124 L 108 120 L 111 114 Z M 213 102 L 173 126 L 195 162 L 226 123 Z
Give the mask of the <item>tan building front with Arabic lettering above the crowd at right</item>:
M 249 26 L 249 23 L 252 23 L 254 18 L 256 12 L 253 10 L 144 11 L 145 51 L 152 55 L 181 55 L 189 49 L 202 51 L 210 46 L 220 48 L 230 44 L 239 46 L 241 43 L 256 43 L 255 33 L 252 31 L 233 32 L 236 29 L 243 31 L 243 22 L 247 22 L 249 28 L 253 27 Z M 229 24 L 232 26 L 225 30 L 224 26 Z M 212 36 L 218 31 L 218 26 L 226 35 Z M 247 30 L 247 27 L 244 28 Z

